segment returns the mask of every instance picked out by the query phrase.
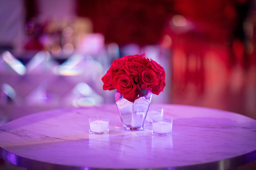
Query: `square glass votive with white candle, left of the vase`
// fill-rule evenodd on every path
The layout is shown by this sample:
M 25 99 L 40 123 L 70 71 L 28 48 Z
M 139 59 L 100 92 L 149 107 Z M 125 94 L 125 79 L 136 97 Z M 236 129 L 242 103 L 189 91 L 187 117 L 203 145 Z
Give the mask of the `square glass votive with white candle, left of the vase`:
M 109 133 L 109 117 L 95 116 L 89 118 L 89 133 L 102 135 Z

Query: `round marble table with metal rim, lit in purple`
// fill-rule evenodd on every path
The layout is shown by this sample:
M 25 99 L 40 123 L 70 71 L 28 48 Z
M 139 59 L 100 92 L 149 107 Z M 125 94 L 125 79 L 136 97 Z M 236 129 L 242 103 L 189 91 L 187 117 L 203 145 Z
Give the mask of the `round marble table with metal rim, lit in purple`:
M 123 130 L 114 104 L 31 114 L 0 128 L 0 155 L 27 169 L 234 169 L 256 160 L 256 120 L 237 113 L 161 104 L 172 135 Z M 151 105 L 152 107 L 152 105 Z M 88 118 L 110 117 L 110 133 Z

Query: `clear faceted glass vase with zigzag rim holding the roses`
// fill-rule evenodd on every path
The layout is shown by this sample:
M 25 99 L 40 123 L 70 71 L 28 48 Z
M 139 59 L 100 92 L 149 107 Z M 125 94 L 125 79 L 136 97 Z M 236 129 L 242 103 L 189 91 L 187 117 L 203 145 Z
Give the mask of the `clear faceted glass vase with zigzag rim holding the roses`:
M 143 90 L 134 102 L 123 98 L 119 92 L 115 93 L 115 102 L 119 116 L 125 130 L 142 130 L 151 102 L 152 92 Z

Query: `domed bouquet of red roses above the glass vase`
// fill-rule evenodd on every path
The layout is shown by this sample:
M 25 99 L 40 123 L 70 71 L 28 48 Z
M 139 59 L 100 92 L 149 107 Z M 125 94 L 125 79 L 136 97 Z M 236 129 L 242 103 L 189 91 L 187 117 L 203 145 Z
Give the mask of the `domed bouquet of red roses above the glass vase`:
M 162 92 L 165 87 L 164 68 L 144 56 L 135 54 L 114 60 L 101 78 L 103 90 L 116 89 L 130 102 L 145 95 L 146 90 L 157 95 Z

